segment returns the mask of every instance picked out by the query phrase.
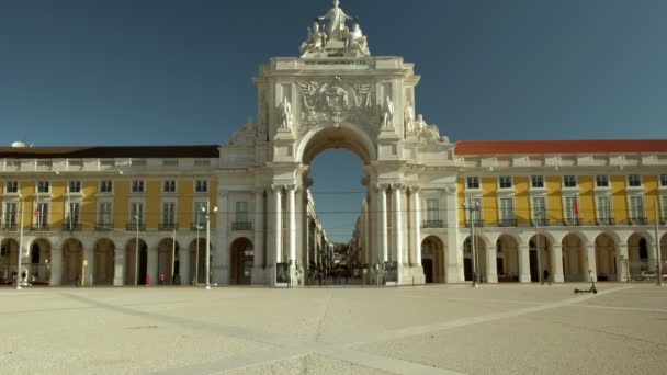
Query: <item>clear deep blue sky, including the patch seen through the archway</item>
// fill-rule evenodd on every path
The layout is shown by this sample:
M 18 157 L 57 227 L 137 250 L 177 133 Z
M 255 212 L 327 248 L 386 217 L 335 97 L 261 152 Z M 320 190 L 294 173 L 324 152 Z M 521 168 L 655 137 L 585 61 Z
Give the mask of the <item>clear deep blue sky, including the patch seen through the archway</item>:
M 222 144 L 256 113 L 250 78 L 258 65 L 295 56 L 313 16 L 330 7 L 329 0 L 3 0 L 0 144 Z M 361 19 L 373 55 L 416 64 L 417 113 L 452 140 L 667 138 L 667 1 L 342 0 L 341 7 Z M 330 168 L 341 161 L 350 172 Z M 360 166 L 341 150 L 315 160 L 323 215 L 348 211 L 341 202 L 358 208 Z M 347 240 L 354 217 L 324 219 L 331 237 Z

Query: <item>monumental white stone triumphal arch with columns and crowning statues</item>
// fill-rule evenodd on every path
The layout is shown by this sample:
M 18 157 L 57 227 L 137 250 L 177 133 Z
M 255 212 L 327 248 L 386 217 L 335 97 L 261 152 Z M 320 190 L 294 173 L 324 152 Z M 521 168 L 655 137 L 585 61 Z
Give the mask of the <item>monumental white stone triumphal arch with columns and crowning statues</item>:
M 456 223 L 454 146 L 415 115 L 420 77 L 402 57 L 373 56 L 355 20 L 335 1 L 308 27 L 298 57 L 275 57 L 260 66 L 253 78 L 257 121 L 249 120 L 221 149 L 219 205 L 229 211 L 239 196 L 252 202 L 253 284 L 275 284 L 276 273 L 284 272 L 276 264 L 287 264 L 294 274 L 312 262 L 308 170 L 326 149 L 344 148 L 363 160 L 368 193 L 360 202 L 361 262 L 389 264 L 389 281 L 425 282 L 420 213 L 429 197 L 448 213 L 446 221 Z M 249 235 L 233 230 L 228 221 L 217 221 L 223 252 Z M 443 246 L 456 249 L 455 226 L 441 232 Z M 231 258 L 213 257 L 214 279 L 221 283 L 237 272 Z M 455 258 L 443 262 L 453 280 L 461 276 Z

